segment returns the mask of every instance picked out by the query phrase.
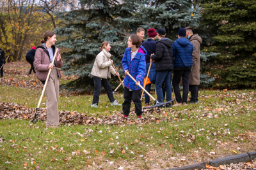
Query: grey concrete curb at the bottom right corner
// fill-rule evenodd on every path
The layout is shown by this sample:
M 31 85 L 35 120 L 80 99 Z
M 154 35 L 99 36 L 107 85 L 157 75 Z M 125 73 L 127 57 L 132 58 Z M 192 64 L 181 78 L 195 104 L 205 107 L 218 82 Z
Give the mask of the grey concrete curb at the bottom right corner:
M 209 161 L 210 166 L 218 167 L 220 165 L 226 165 L 226 164 L 237 164 L 239 162 L 247 162 L 252 161 L 256 159 L 256 151 L 255 152 L 248 152 L 248 153 L 241 153 L 239 155 L 232 155 L 229 157 L 224 157 L 220 159 L 214 159 Z M 172 169 L 166 169 L 166 170 L 201 170 L 206 169 L 207 162 L 201 163 L 201 164 L 193 164 L 190 166 L 184 166 L 184 167 L 176 167 Z

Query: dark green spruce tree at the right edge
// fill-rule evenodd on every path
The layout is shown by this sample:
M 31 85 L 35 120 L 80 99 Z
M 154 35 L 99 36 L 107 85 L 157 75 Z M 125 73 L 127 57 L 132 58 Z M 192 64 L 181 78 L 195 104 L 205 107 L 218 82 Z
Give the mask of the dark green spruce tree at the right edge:
M 256 1 L 221 0 L 202 4 L 202 24 L 216 36 L 207 52 L 217 51 L 211 71 L 220 87 L 256 86 Z

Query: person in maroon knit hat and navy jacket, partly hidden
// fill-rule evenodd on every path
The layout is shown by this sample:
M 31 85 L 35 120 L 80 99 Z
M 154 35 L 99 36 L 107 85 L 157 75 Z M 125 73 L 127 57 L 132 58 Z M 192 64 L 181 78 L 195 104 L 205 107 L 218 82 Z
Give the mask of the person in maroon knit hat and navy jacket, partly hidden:
M 142 43 L 142 46 L 145 48 L 145 50 L 147 51 L 147 55 L 146 55 L 146 69 L 147 69 L 147 73 L 148 73 L 148 68 L 150 66 L 150 55 L 152 53 L 156 53 L 156 29 L 154 28 L 150 28 L 147 30 L 148 31 L 148 39 L 147 41 L 145 41 L 144 43 Z M 153 62 L 151 67 L 150 67 L 150 71 L 154 71 L 156 64 Z M 147 75 L 147 74 L 146 74 Z M 147 92 L 150 92 L 151 89 L 151 83 L 145 82 L 146 80 L 144 80 L 144 83 L 146 83 L 146 87 L 145 89 L 147 90 Z M 150 81 L 149 78 L 147 81 Z M 145 93 L 145 104 L 148 105 L 150 102 L 150 98 L 149 96 Z

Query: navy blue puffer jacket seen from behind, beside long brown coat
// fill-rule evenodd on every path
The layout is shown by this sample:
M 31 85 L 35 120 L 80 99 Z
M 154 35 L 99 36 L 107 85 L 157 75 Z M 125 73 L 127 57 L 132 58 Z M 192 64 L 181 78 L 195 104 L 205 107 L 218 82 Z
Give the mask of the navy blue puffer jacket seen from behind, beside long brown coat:
M 193 45 L 186 38 L 179 38 L 172 44 L 174 70 L 191 70 L 193 66 Z

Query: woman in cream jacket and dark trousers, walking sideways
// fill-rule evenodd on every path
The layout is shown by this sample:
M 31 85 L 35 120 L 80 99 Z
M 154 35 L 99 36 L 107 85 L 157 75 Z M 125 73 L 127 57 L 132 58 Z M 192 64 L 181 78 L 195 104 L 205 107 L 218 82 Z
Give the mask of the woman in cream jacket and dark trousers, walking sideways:
M 94 79 L 94 87 L 95 91 L 93 94 L 92 108 L 97 108 L 99 104 L 99 97 L 101 93 L 101 85 L 103 85 L 104 89 L 108 94 L 108 99 L 111 102 L 111 106 L 121 106 L 122 104 L 118 104 L 114 99 L 113 91 L 111 85 L 109 84 L 108 78 L 111 78 L 110 73 L 113 75 L 119 76 L 119 74 L 115 72 L 115 69 L 112 67 L 113 60 L 109 59 L 111 57 L 110 44 L 108 41 L 104 41 L 100 50 L 102 50 L 96 57 L 95 62 L 93 64 L 92 72 Z

